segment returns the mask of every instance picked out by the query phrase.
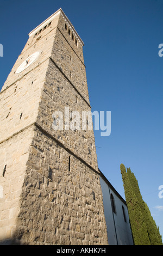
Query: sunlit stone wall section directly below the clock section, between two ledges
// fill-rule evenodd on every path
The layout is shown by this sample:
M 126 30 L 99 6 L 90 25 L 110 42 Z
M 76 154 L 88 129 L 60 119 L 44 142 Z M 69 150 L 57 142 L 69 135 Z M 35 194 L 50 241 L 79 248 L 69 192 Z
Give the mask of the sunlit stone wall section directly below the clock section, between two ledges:
M 0 93 L 0 142 L 36 120 L 47 63 L 48 60 Z

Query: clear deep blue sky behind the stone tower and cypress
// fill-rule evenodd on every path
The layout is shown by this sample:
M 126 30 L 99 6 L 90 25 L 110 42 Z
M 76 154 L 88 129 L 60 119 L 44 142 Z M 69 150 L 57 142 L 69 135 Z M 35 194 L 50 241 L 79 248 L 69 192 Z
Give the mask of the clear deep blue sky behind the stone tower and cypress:
M 84 41 L 92 111 L 111 111 L 111 135 L 95 131 L 98 166 L 124 197 L 130 167 L 163 237 L 163 0 L 1 0 L 0 88 L 28 33 L 59 8 Z

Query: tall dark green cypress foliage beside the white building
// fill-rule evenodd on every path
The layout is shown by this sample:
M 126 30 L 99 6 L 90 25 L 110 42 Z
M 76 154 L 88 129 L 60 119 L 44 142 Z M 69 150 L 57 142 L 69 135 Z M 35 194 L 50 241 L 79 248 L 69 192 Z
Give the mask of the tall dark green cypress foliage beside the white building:
M 135 245 L 162 245 L 161 235 L 159 233 L 159 228 L 156 227 L 155 221 L 151 216 L 151 212 L 147 204 L 143 201 L 139 184 L 136 180 L 134 173 L 131 172 L 130 168 L 124 167 L 121 164 L 121 174 L 124 186 L 124 192 L 126 196 L 126 202 L 129 211 L 129 218 L 131 224 L 131 230 L 133 232 L 133 238 Z M 126 186 L 128 184 L 128 186 Z M 130 206 L 131 199 L 136 200 L 136 204 L 133 208 Z M 129 199 L 130 198 L 130 202 Z M 137 209 L 135 209 L 135 206 Z M 137 216 L 139 216 L 139 225 L 137 223 Z M 136 230 L 138 226 L 142 225 L 143 229 L 139 228 Z M 137 237 L 139 236 L 139 237 Z M 140 241 L 140 237 L 142 241 Z

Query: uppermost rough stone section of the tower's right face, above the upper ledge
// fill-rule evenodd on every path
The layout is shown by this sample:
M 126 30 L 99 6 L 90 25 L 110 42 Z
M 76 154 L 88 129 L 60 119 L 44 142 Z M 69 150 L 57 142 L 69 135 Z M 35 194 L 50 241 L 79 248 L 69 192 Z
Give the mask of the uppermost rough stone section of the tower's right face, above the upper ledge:
M 64 72 L 65 76 L 68 77 L 87 103 L 90 104 L 83 49 L 80 43 L 76 46 L 75 42 L 72 40 L 73 32 L 69 35 L 68 31 L 65 29 L 65 24 L 65 20 L 60 16 L 51 58 L 62 72 Z

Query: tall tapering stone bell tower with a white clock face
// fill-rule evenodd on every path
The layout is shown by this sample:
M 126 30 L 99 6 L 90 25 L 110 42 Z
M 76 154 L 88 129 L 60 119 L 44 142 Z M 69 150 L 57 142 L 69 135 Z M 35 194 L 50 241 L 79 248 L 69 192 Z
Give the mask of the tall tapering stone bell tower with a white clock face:
M 53 129 L 56 111 L 91 111 L 83 45 L 59 9 L 1 90 L 1 243 L 108 244 L 93 130 Z

